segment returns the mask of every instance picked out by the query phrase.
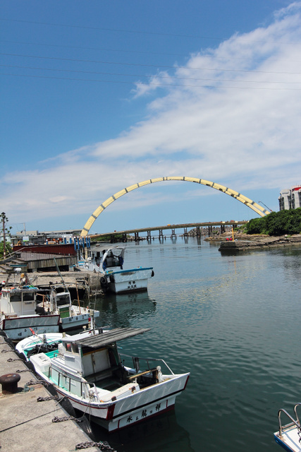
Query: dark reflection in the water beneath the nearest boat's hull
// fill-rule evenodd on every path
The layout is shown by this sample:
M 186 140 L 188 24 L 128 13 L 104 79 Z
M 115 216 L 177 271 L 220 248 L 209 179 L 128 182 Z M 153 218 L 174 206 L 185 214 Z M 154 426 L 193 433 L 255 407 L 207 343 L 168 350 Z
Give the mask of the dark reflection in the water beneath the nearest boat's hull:
M 93 422 L 91 426 L 97 441 L 108 441 L 118 452 L 195 452 L 188 432 L 180 427 L 174 411 L 111 434 Z

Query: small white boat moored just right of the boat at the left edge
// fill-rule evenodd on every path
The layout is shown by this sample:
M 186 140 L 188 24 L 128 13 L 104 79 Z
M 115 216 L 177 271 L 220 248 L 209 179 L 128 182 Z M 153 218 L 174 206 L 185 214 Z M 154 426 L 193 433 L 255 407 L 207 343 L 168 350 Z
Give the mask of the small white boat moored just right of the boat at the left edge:
M 70 292 L 66 286 L 64 286 L 63 292 L 57 292 L 56 287 L 52 287 L 50 295 L 44 297 L 43 301 L 39 303 L 39 308 L 59 314 L 62 331 L 88 326 L 92 318 L 99 316 L 99 311 L 96 309 L 80 306 L 79 299 L 78 304 L 72 304 Z

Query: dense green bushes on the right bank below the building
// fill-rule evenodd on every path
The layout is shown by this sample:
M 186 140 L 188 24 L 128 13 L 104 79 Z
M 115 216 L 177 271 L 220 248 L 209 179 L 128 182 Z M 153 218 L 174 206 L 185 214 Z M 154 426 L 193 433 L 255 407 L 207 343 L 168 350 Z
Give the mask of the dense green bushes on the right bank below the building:
M 246 225 L 247 234 L 301 234 L 301 208 L 271 212 L 266 217 L 253 218 Z

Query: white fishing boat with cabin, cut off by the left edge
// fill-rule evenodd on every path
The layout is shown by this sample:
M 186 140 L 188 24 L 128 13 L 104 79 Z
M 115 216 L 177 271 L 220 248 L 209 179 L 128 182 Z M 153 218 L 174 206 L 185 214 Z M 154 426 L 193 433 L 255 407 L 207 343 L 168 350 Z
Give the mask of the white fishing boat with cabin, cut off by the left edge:
M 32 335 L 30 328 L 39 333 L 59 332 L 59 314 L 37 314 L 38 291 L 32 286 L 2 287 L 0 329 L 11 340 Z

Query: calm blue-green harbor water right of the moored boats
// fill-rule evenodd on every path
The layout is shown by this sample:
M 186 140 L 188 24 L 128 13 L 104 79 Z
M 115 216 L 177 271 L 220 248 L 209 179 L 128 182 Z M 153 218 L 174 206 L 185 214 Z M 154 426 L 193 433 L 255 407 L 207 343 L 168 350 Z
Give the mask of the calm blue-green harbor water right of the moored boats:
M 98 323 L 151 328 L 120 351 L 164 358 L 190 379 L 174 412 L 110 435 L 93 425 L 97 440 L 118 452 L 276 452 L 278 409 L 301 401 L 301 246 L 125 246 L 126 268 L 152 266 L 154 278 L 147 292 L 98 298 Z

